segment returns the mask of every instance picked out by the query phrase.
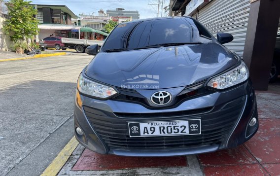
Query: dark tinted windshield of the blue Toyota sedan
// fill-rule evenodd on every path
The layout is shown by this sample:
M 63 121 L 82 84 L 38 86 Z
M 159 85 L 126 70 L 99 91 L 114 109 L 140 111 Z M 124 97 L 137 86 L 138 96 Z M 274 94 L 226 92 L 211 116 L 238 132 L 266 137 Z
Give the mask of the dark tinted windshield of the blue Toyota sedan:
M 212 35 L 190 18 L 156 19 L 118 25 L 106 39 L 102 51 L 211 41 Z

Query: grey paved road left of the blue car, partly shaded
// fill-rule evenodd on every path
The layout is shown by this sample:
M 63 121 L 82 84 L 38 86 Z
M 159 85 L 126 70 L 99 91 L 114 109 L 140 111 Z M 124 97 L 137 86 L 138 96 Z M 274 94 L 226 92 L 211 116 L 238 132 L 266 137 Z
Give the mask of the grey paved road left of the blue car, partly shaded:
M 73 137 L 75 82 L 91 59 L 0 63 L 0 176 L 39 175 Z

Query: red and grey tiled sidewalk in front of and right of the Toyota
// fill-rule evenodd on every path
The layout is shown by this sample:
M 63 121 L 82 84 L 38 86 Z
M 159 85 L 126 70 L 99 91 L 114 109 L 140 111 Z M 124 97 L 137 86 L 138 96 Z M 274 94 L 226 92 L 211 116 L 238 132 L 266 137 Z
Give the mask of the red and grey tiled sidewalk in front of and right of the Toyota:
M 177 157 L 101 155 L 80 144 L 59 176 L 280 176 L 280 81 L 257 91 L 259 130 L 244 144 L 229 150 Z

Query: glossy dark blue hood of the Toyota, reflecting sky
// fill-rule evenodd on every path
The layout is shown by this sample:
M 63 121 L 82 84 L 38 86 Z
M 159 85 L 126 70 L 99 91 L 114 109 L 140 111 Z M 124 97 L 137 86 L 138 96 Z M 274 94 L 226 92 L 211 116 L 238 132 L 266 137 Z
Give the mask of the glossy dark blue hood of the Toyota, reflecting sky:
M 146 90 L 187 86 L 234 66 L 238 58 L 218 43 L 100 52 L 85 74 L 116 87 Z

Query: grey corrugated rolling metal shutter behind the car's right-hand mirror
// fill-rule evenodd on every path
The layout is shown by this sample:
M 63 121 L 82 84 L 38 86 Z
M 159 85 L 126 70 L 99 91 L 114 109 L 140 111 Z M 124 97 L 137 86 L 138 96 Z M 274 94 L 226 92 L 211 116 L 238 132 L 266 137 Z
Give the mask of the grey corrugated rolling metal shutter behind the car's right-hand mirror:
M 243 57 L 249 10 L 249 0 L 212 0 L 199 11 L 198 21 L 215 37 L 218 32 L 232 34 L 234 40 L 224 45 Z

